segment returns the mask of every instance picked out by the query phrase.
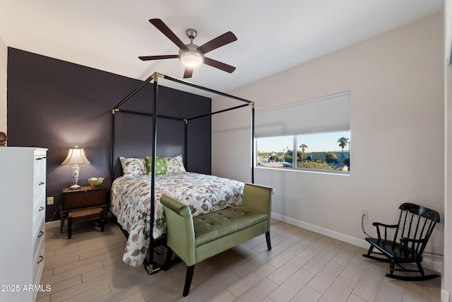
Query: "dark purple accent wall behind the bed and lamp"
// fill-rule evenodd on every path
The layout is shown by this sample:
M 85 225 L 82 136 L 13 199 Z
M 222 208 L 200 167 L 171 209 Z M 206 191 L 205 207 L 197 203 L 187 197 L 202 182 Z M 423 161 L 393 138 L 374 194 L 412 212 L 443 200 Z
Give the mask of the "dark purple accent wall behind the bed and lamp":
M 112 183 L 112 108 L 142 81 L 92 69 L 59 59 L 8 48 L 8 146 L 38 146 L 49 149 L 46 220 L 59 219 L 61 190 L 72 184 L 72 168 L 61 165 L 70 148 L 85 149 L 90 165 L 80 166 L 79 185 L 88 178 L 105 177 Z M 153 84 L 149 83 L 124 110 L 152 113 Z M 187 118 L 211 112 L 211 100 L 200 95 L 158 86 L 159 115 Z M 115 115 L 113 161 L 117 156 L 150 156 L 152 119 L 119 112 Z M 210 174 L 210 117 L 189 122 L 186 169 Z M 184 154 L 185 123 L 157 119 L 157 156 Z

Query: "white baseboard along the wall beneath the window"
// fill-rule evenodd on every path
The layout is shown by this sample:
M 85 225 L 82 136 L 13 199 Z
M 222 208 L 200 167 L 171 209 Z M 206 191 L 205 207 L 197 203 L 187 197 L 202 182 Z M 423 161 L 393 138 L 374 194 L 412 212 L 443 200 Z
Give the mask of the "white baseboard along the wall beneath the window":
M 359 248 L 365 248 L 366 250 L 369 248 L 369 243 L 367 243 L 366 240 L 361 239 L 361 238 L 355 238 L 352 236 L 348 236 L 343 233 L 331 231 L 328 228 L 321 228 L 320 226 L 315 226 L 314 224 L 311 224 L 311 223 L 306 223 L 303 221 L 299 221 L 297 219 L 292 219 L 290 217 L 282 216 L 282 215 L 275 214 L 275 213 L 271 214 L 271 218 L 292 224 L 293 226 L 299 226 L 300 228 L 304 228 L 306 230 L 313 231 L 313 232 L 322 234 L 324 236 L 335 238 L 337 240 L 341 240 L 346 243 L 350 243 L 352 245 L 356 245 Z M 432 269 L 432 271 L 434 271 L 434 272 L 442 272 L 443 271 L 442 258 L 439 259 L 439 257 L 437 257 L 437 256 L 429 255 L 429 254 L 425 254 L 425 253 L 422 256 L 424 257 L 424 260 L 422 261 L 422 267 L 425 267 L 427 269 Z

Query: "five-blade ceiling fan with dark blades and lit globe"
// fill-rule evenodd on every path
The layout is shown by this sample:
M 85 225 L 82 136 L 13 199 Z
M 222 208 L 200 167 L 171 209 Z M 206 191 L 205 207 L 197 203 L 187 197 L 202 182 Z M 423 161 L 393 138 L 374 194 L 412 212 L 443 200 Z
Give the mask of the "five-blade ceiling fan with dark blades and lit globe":
M 207 64 L 209 66 L 221 69 L 223 71 L 232 73 L 235 70 L 234 66 L 218 62 L 214 59 L 204 57 L 204 54 L 216 50 L 218 47 L 229 44 L 237 40 L 237 37 L 228 31 L 215 39 L 206 42 L 205 44 L 198 46 L 193 44 L 193 40 L 198 33 L 193 28 L 186 30 L 186 35 L 190 39 L 189 44 L 184 44 L 177 35 L 175 35 L 172 30 L 170 30 L 165 23 L 160 19 L 150 19 L 152 23 L 158 30 L 160 30 L 163 35 L 166 35 L 169 40 L 171 40 L 177 47 L 179 47 L 179 54 L 165 54 L 160 56 L 146 56 L 138 57 L 142 61 L 157 60 L 157 59 L 177 59 L 185 65 L 184 79 L 191 78 L 193 75 L 193 69 L 201 66 L 201 64 Z

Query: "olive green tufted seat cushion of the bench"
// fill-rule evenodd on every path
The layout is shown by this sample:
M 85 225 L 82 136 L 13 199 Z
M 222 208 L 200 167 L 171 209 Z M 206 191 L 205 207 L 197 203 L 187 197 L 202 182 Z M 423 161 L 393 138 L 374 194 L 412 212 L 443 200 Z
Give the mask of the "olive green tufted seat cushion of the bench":
M 193 218 L 195 246 L 266 221 L 268 214 L 246 207 L 222 209 Z

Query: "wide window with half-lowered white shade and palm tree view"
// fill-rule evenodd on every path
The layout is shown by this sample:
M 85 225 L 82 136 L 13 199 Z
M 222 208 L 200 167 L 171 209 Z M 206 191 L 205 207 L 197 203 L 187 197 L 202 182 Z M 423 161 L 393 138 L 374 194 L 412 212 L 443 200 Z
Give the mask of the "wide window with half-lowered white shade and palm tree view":
M 260 167 L 350 171 L 350 92 L 256 111 Z

